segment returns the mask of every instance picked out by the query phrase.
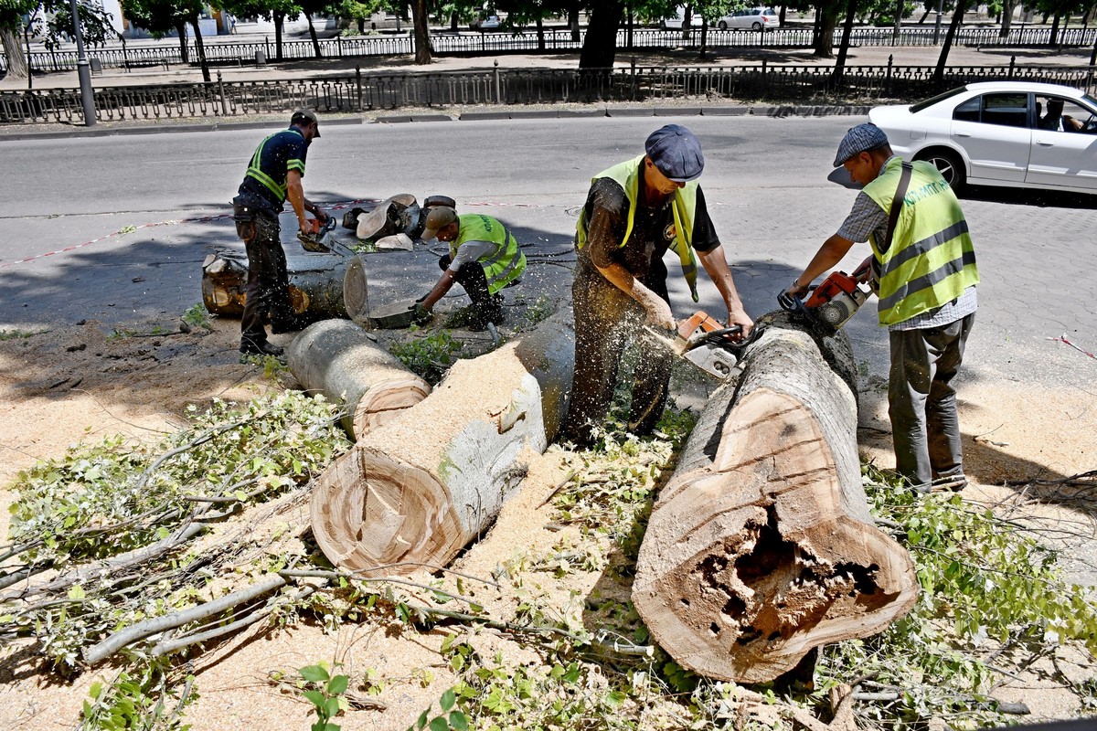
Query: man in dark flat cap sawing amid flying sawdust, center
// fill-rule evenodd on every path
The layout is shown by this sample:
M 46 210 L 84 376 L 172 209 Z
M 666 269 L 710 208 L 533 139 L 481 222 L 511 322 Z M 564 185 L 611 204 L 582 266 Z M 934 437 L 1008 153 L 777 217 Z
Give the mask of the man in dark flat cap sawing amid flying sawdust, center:
M 671 124 L 652 133 L 645 152 L 595 175 L 576 227 L 575 373 L 564 436 L 581 445 L 604 423 L 621 356 L 638 327 L 677 327 L 663 263 L 667 249 L 678 255 L 693 301 L 700 258 L 727 306 L 728 324 L 740 325 L 743 336 L 754 327 L 697 183 L 704 169 L 701 142 Z M 672 363 L 667 347 L 642 354 L 629 420 L 634 434 L 649 434 L 663 415 Z

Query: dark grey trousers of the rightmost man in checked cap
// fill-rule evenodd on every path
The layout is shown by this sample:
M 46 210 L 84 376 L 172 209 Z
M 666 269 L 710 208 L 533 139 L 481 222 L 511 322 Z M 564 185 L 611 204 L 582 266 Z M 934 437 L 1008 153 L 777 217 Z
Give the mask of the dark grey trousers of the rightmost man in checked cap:
M 975 322 L 974 312 L 940 328 L 890 333 L 887 414 L 895 471 L 914 484 L 963 473 L 963 447 L 952 378 Z

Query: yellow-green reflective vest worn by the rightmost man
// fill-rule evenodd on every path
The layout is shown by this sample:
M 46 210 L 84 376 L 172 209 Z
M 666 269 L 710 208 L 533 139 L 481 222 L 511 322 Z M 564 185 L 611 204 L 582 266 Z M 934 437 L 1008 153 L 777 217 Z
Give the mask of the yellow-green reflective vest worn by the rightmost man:
M 891 325 L 936 310 L 979 284 L 975 250 L 960 202 L 928 162 L 914 162 L 911 184 L 892 238 L 880 251 L 869 237 L 880 263 L 880 324 Z M 890 213 L 902 173 L 902 160 L 892 158 L 882 175 L 864 193 Z

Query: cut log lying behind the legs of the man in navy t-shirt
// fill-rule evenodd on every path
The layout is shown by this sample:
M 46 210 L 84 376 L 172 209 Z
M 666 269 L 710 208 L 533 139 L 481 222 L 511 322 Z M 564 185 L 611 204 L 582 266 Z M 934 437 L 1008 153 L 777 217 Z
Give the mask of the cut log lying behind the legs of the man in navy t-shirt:
M 290 304 L 302 324 L 330 318 L 369 324 L 365 266 L 359 256 L 299 254 L 286 256 Z M 202 263 L 202 302 L 214 315 L 244 313 L 248 259 L 218 252 Z

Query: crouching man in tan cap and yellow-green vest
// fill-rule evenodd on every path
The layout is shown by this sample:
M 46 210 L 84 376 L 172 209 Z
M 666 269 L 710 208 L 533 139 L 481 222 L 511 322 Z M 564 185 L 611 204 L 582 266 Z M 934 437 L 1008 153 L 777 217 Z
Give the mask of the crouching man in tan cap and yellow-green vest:
M 450 244 L 450 252 L 438 260 L 443 270 L 438 284 L 412 306 L 416 321 L 429 320 L 434 305 L 456 282 L 473 300 L 467 318 L 470 330 L 485 330 L 489 322 L 501 324 L 502 295 L 499 290 L 517 284 L 525 271 L 525 254 L 518 247 L 518 240 L 490 216 L 459 216 L 449 206 L 433 207 L 427 216 L 422 240 L 436 237 Z

